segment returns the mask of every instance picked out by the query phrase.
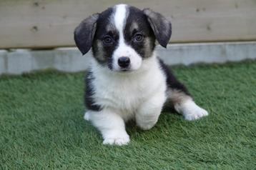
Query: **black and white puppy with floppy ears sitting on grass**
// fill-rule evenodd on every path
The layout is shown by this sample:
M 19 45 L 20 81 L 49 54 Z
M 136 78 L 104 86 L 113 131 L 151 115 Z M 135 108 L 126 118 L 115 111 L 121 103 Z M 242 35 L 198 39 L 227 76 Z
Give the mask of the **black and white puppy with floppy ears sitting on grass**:
M 154 52 L 155 41 L 166 47 L 171 34 L 164 16 L 126 4 L 93 14 L 75 29 L 78 49 L 86 54 L 92 47 L 93 54 L 84 119 L 99 129 L 103 144 L 128 144 L 125 122 L 130 119 L 151 129 L 164 104 L 189 121 L 207 116 Z

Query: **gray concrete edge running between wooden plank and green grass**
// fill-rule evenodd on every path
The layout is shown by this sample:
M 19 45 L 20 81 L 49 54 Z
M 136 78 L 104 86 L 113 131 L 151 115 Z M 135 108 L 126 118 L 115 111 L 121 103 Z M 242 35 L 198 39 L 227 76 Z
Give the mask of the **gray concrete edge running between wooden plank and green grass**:
M 225 63 L 256 59 L 256 41 L 170 44 L 167 49 L 157 46 L 157 55 L 168 65 Z M 23 74 L 43 69 L 77 72 L 89 66 L 92 53 L 85 56 L 77 48 L 52 50 L 0 50 L 0 75 Z

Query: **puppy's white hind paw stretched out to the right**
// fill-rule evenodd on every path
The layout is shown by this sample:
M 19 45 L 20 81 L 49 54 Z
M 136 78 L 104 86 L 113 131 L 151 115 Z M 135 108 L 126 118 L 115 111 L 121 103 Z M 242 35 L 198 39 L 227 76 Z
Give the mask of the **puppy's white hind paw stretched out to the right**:
M 202 109 L 200 106 L 196 105 L 190 109 L 187 109 L 186 113 L 184 113 L 184 118 L 188 121 L 194 121 L 207 115 L 208 112 L 205 109 Z

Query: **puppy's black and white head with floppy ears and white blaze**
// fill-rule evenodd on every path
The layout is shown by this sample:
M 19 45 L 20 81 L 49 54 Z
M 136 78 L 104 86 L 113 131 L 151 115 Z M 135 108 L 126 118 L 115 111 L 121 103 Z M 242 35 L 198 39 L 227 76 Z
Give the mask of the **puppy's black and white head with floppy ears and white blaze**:
M 119 4 L 84 19 L 74 31 L 74 40 L 82 54 L 92 47 L 102 66 L 132 71 L 152 56 L 156 39 L 166 47 L 171 34 L 171 23 L 161 14 Z

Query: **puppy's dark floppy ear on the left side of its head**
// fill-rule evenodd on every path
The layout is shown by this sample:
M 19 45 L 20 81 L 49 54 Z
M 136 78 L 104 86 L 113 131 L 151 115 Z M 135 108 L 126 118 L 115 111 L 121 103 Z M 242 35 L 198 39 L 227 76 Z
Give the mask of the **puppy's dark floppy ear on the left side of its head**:
M 93 14 L 87 19 L 84 19 L 74 30 L 74 41 L 83 55 L 87 54 L 92 47 L 98 19 L 99 14 Z

